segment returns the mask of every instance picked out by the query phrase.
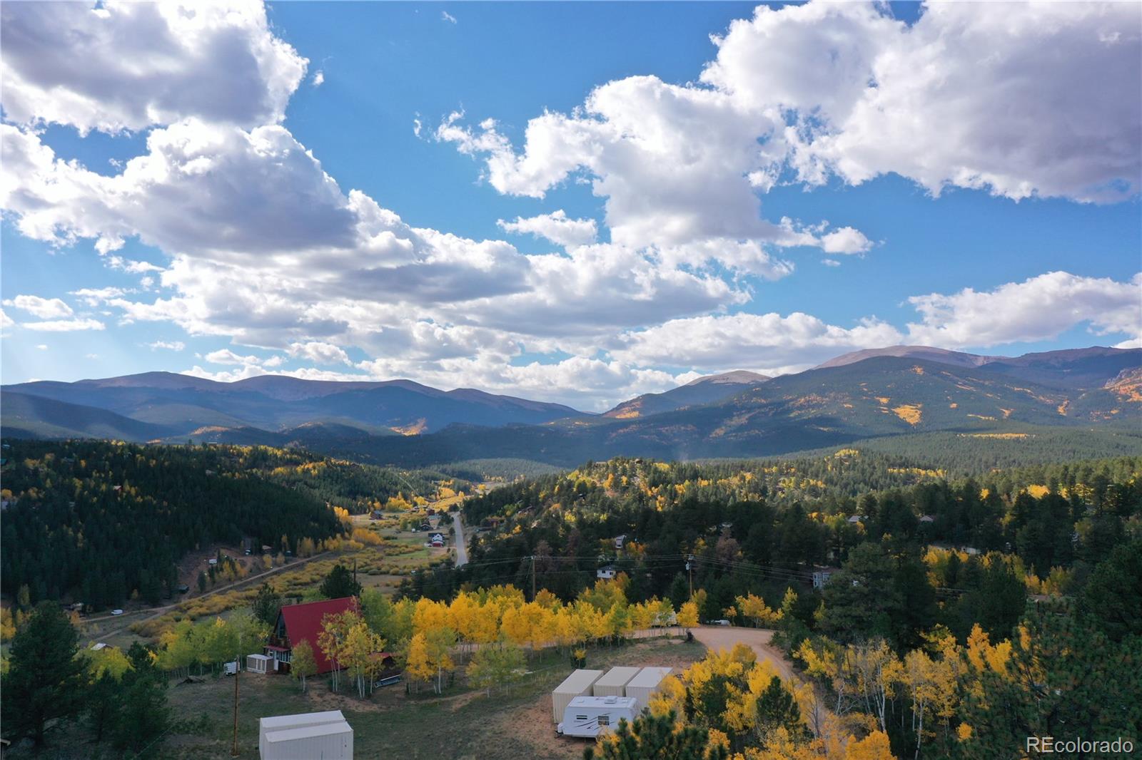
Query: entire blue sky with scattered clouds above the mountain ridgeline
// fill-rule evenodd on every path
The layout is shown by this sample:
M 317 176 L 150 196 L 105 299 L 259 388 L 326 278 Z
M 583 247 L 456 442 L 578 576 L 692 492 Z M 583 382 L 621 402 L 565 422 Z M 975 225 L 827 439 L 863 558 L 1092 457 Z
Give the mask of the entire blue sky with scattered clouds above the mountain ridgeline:
M 0 380 L 598 411 L 1142 346 L 1136 3 L 0 6 Z

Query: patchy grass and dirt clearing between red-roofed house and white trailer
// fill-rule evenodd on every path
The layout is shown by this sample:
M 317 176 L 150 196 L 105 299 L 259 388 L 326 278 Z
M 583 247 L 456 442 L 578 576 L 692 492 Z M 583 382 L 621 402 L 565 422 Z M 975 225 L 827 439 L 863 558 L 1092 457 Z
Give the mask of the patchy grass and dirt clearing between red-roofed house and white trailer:
M 705 648 L 681 639 L 653 639 L 589 650 L 587 666 L 685 666 L 700 658 Z M 456 682 L 436 696 L 428 687 L 405 694 L 401 685 L 379 689 L 369 700 L 357 700 L 347 689 L 333 694 L 321 679 L 311 679 L 303 695 L 295 681 L 280 676 L 243 674 L 239 700 L 239 750 L 241 758 L 258 757 L 258 718 L 264 715 L 341 710 L 353 727 L 354 757 L 466 760 L 484 758 L 578 758 L 582 739 L 557 737 L 552 721 L 550 690 L 572 666 L 565 655 L 546 650 L 533 656 L 531 674 L 506 693 L 489 698 L 472 690 L 458 671 Z M 204 684 L 172 685 L 168 692 L 175 713 L 198 719 L 190 734 L 168 737 L 164 758 L 206 759 L 230 754 L 233 730 L 231 678 Z

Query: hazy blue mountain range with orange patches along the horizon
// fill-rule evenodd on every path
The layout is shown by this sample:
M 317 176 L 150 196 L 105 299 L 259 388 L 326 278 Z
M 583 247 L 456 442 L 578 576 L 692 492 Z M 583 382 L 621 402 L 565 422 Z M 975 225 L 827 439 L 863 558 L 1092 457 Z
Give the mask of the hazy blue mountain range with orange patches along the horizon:
M 300 445 L 403 466 L 756 456 L 910 432 L 1136 432 L 1140 420 L 1142 349 L 1103 347 L 1003 357 L 893 346 L 777 378 L 699 378 L 603 414 L 409 380 L 224 383 L 150 372 L 2 388 L 6 436 Z

